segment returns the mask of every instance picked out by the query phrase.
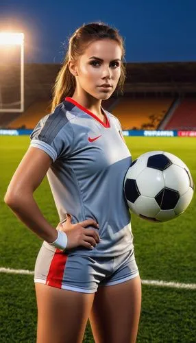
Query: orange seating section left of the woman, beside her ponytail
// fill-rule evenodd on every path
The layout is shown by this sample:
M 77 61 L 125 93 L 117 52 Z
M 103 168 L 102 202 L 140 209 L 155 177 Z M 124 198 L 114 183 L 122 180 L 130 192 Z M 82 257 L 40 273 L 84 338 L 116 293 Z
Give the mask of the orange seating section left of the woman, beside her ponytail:
M 22 115 L 9 123 L 8 128 L 33 129 L 42 117 L 50 113 L 50 104 L 50 102 L 46 101 L 32 104 Z

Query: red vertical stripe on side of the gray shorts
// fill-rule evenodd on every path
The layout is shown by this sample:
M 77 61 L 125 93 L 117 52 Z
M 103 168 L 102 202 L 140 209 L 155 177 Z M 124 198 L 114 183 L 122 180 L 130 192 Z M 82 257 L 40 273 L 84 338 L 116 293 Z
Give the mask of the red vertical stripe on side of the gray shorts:
M 47 285 L 61 288 L 67 257 L 68 254 L 56 249 L 47 275 Z

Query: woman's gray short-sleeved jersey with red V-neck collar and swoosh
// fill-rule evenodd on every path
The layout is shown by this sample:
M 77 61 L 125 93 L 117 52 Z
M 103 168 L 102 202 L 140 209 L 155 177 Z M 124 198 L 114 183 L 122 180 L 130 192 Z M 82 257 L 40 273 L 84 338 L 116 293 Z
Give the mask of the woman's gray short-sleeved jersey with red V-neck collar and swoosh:
M 119 120 L 104 112 L 106 123 L 66 97 L 38 122 L 30 137 L 30 146 L 44 150 L 53 160 L 47 178 L 60 221 L 70 213 L 73 224 L 87 219 L 99 223 L 100 243 L 93 250 L 71 249 L 78 255 L 114 257 L 133 248 L 123 194 L 132 158 Z

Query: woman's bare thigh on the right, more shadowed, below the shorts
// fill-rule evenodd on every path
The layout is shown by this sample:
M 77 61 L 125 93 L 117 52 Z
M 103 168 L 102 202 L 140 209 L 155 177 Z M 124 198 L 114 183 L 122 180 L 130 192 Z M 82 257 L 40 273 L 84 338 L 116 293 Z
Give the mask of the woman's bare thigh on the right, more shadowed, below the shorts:
M 95 342 L 136 342 L 140 305 L 140 276 L 117 285 L 99 287 L 90 312 Z

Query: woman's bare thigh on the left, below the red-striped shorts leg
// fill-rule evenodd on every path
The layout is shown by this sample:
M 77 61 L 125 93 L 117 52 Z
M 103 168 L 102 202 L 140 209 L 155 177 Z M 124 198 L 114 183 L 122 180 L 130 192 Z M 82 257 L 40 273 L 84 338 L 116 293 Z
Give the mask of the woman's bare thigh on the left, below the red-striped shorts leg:
M 95 294 L 36 283 L 37 343 L 80 343 Z

